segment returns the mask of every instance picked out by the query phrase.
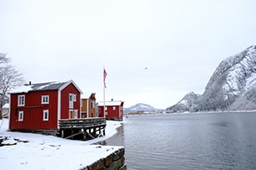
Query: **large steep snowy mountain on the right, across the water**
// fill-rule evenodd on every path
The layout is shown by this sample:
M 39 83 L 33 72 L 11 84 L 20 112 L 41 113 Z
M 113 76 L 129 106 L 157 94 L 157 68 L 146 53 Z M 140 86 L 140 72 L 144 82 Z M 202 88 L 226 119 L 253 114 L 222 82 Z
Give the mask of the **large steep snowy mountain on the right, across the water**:
M 191 92 L 168 112 L 256 109 L 256 45 L 224 59 L 202 95 Z

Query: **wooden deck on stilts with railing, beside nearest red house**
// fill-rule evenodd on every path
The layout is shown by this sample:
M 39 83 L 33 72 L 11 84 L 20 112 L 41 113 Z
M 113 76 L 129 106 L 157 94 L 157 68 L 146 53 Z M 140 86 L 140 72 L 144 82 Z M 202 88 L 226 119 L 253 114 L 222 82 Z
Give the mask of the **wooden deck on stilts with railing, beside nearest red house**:
M 106 118 L 60 119 L 60 137 L 66 139 L 94 139 L 105 136 Z

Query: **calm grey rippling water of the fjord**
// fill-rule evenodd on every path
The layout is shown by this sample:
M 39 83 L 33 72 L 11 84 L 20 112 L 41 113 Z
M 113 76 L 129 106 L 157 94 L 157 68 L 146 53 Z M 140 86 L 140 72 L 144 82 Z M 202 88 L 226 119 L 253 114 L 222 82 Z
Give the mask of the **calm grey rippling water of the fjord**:
M 128 169 L 256 169 L 256 113 L 128 116 L 106 145 Z

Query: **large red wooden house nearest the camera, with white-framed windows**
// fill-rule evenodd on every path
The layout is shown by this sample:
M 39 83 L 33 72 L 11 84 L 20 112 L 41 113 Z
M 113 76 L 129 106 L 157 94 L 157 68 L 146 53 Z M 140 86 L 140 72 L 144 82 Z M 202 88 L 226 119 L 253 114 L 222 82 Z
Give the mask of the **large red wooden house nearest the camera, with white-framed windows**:
M 81 118 L 81 90 L 73 82 L 24 85 L 10 93 L 9 129 L 58 129 L 60 119 Z

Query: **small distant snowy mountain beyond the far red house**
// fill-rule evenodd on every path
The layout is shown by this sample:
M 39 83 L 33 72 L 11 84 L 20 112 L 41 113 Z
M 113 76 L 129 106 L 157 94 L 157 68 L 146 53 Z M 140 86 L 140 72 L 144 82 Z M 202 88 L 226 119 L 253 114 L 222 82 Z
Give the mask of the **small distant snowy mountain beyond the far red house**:
M 129 108 L 124 109 L 125 113 L 138 112 L 138 111 L 155 113 L 155 112 L 160 111 L 160 110 L 155 109 L 153 106 L 149 106 L 149 105 L 144 104 L 144 103 L 138 103 L 134 106 L 130 106 Z

